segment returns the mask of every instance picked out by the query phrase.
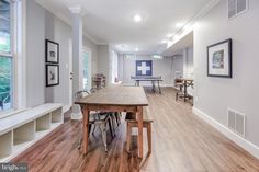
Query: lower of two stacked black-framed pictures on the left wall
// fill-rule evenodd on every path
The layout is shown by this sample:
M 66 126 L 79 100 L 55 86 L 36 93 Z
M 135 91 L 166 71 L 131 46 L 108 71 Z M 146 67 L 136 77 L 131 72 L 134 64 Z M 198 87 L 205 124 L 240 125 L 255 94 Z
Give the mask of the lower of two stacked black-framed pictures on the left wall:
M 46 87 L 59 84 L 59 66 L 46 65 Z

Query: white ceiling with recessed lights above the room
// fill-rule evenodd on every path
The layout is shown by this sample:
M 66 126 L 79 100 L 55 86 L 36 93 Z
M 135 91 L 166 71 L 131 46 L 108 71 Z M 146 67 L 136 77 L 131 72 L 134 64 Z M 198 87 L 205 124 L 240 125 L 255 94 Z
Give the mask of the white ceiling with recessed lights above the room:
M 66 21 L 68 7 L 82 5 L 83 31 L 97 44 L 110 44 L 117 51 L 155 54 L 165 46 L 168 33 L 176 34 L 177 23 L 187 24 L 212 0 L 36 0 Z M 135 23 L 134 14 L 143 21 Z

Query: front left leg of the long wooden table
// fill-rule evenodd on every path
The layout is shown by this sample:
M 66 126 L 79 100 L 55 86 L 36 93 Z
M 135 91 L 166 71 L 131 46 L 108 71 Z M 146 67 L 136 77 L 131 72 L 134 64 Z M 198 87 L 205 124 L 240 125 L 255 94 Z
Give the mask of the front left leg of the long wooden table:
M 90 114 L 90 111 L 88 111 L 88 108 L 85 107 L 83 110 L 83 154 L 87 154 L 87 151 L 88 151 L 89 114 Z

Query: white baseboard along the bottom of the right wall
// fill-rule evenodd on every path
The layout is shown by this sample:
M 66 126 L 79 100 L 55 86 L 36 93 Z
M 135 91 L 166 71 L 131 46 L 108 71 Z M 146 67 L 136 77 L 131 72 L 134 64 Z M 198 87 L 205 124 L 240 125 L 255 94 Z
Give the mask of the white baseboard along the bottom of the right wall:
M 223 124 L 218 123 L 214 118 L 210 117 L 206 115 L 204 112 L 196 107 L 192 107 L 192 112 L 206 123 L 209 123 L 211 126 L 213 126 L 215 129 L 221 131 L 223 135 L 225 135 L 227 138 L 236 142 L 238 146 L 240 146 L 243 149 L 247 150 L 249 153 L 251 153 L 254 157 L 259 159 L 259 147 L 251 144 L 250 141 L 246 140 L 245 138 L 238 136 L 230 129 L 228 129 L 226 126 Z

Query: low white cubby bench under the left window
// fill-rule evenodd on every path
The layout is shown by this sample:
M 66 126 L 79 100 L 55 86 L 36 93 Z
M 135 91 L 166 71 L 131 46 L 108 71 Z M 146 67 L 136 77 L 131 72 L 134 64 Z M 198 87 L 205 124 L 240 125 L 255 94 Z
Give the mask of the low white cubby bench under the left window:
M 0 119 L 0 162 L 8 162 L 64 123 L 61 104 L 43 104 Z

